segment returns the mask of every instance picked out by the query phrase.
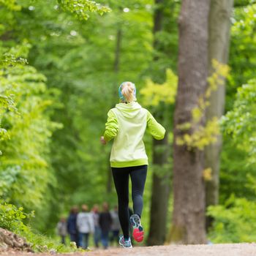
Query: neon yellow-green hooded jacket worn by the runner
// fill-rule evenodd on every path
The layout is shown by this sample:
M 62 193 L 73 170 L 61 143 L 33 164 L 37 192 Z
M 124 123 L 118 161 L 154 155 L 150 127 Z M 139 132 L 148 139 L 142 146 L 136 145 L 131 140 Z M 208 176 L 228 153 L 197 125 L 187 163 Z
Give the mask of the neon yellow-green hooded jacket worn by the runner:
M 143 143 L 143 135 L 148 128 L 151 135 L 162 140 L 165 128 L 137 102 L 119 103 L 108 112 L 104 139 L 114 138 L 111 155 L 111 167 L 129 167 L 148 165 Z

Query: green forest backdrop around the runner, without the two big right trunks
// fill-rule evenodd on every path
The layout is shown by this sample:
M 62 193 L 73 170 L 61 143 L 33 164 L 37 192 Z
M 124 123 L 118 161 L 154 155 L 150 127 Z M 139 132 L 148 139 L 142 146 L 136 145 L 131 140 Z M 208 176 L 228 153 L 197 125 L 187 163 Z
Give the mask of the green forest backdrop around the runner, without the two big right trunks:
M 167 128 L 164 143 L 145 138 L 146 243 L 163 244 L 176 240 L 173 116 L 181 1 L 98 2 L 0 1 L 0 224 L 22 233 L 24 222 L 34 233 L 54 236 L 71 206 L 116 205 L 110 145 L 102 147 L 99 138 L 118 102 L 118 85 L 131 80 L 138 102 Z M 214 66 L 226 80 L 218 200 L 206 211 L 207 239 L 214 243 L 256 238 L 256 3 L 232 4 L 230 72 Z M 206 184 L 211 171 L 203 170 Z M 153 237 L 159 217 L 163 228 Z

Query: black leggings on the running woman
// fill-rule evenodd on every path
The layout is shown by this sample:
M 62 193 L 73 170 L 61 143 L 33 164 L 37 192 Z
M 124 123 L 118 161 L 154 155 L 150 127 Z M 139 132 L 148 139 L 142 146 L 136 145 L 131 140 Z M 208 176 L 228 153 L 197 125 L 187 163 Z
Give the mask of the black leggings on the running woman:
M 132 167 L 112 167 L 113 179 L 118 197 L 118 217 L 124 238 L 129 238 L 129 176 L 132 180 L 132 201 L 134 214 L 141 217 L 143 209 L 143 191 L 148 165 Z

